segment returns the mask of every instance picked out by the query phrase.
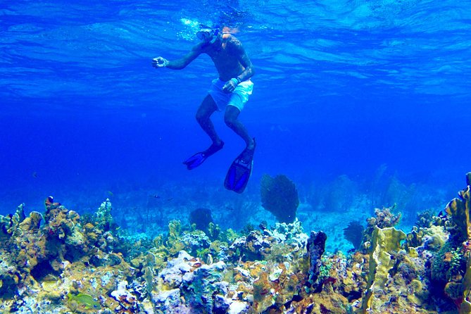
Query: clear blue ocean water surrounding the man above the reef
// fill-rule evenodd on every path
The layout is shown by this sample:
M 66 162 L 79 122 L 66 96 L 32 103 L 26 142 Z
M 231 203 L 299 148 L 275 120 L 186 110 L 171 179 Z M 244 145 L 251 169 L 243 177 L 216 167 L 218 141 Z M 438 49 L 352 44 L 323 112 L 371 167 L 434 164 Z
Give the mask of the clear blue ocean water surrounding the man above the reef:
M 305 215 L 362 195 L 409 220 L 439 211 L 471 170 L 470 16 L 469 1 L 450 0 L 4 1 L 0 213 L 42 211 L 49 195 L 89 211 L 108 197 L 123 215 L 164 213 L 163 225 L 198 207 L 223 224 L 260 205 L 263 174 L 293 180 Z M 222 114 L 225 149 L 182 165 L 210 144 L 194 113 L 217 77 L 211 59 L 151 66 L 186 54 L 200 23 L 237 29 L 256 68 L 240 119 L 258 146 L 241 195 L 222 187 L 244 148 Z

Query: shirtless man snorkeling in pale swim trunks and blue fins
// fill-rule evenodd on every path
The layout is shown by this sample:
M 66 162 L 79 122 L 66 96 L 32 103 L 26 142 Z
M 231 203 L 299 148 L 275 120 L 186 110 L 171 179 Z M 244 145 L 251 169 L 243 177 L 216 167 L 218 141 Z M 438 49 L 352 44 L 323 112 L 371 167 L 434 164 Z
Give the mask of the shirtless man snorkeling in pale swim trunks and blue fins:
M 206 151 L 195 153 L 188 158 L 184 164 L 189 170 L 194 169 L 206 161 L 206 158 L 222 149 L 224 142 L 215 132 L 210 117 L 215 111 L 225 110 L 225 124 L 246 143 L 246 148 L 234 160 L 227 172 L 225 187 L 241 193 L 251 175 L 255 141 L 237 118 L 252 94 L 253 82 L 250 78 L 254 72 L 250 58 L 241 42 L 228 30 L 227 27 L 202 28 L 196 33 L 201 42 L 196 44 L 187 55 L 175 61 L 168 61 L 159 56 L 153 58 L 152 65 L 154 68 L 181 70 L 200 54 L 207 54 L 211 57 L 219 77 L 213 80 L 208 95 L 199 106 L 196 120 L 213 143 Z

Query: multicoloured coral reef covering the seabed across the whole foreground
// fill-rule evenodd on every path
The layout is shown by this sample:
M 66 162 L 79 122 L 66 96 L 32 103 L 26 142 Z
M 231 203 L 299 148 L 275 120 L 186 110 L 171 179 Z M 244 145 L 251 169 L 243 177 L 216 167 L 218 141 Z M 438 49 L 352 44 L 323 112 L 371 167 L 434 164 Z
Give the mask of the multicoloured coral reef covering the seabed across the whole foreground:
M 115 225 L 109 200 L 81 216 L 49 197 L 44 213 L 0 216 L 0 312 L 470 313 L 471 242 L 457 221 L 469 191 L 408 234 L 390 208 L 363 234 L 341 225 L 363 244 L 347 255 L 297 218 L 241 233 L 171 220 L 147 239 Z

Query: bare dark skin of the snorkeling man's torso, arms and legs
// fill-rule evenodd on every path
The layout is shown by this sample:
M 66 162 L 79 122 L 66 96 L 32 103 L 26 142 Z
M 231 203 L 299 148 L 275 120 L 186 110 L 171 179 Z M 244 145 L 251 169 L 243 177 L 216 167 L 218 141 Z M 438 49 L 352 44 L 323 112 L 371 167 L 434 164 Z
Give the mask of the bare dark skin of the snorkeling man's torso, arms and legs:
M 232 78 L 239 80 L 239 82 L 244 82 L 253 76 L 253 65 L 242 47 L 241 42 L 227 32 L 216 35 L 213 34 L 203 42 L 196 44 L 183 58 L 175 61 L 167 61 L 165 58 L 157 57 L 153 59 L 152 65 L 155 68 L 165 67 L 181 70 L 189 65 L 191 61 L 194 61 L 200 54 L 207 54 L 213 60 L 215 68 L 218 70 L 220 80 L 226 82 L 224 87 L 222 87 L 222 90 L 226 93 L 234 92 L 234 89 L 237 87 L 237 83 L 231 80 Z M 215 153 L 222 149 L 223 146 L 223 142 L 216 133 L 213 122 L 210 119 L 211 115 L 217 110 L 218 106 L 213 100 L 213 97 L 208 94 L 206 98 L 203 99 L 203 102 L 196 112 L 196 120 L 213 141 L 210 148 L 206 150 L 208 154 Z M 255 143 L 249 136 L 244 125 L 237 120 L 239 114 L 239 108 L 226 106 L 224 115 L 225 124 L 244 139 L 246 149 L 253 150 Z

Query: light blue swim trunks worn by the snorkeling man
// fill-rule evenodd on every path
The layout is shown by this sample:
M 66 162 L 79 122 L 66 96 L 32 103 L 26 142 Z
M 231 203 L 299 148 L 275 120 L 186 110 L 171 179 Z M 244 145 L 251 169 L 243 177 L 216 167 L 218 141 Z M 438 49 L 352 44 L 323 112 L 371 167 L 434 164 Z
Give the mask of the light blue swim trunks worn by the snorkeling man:
M 232 93 L 222 91 L 224 84 L 226 84 L 225 81 L 217 78 L 213 80 L 211 88 L 208 90 L 208 94 L 213 97 L 216 106 L 218 106 L 218 111 L 224 110 L 226 106 L 234 106 L 239 111 L 242 111 L 245 103 L 249 100 L 249 96 L 252 94 L 253 82 L 251 80 L 240 82 Z

